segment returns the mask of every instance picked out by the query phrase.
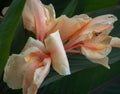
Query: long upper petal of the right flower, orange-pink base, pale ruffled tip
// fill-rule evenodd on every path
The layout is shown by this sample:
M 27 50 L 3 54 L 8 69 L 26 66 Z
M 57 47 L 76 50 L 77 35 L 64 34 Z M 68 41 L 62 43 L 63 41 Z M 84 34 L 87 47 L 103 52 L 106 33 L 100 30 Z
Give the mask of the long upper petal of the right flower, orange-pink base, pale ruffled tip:
M 110 14 L 93 18 L 88 24 L 71 37 L 65 45 L 65 48 L 70 48 L 72 45 L 79 43 L 80 41 L 90 40 L 94 36 L 98 36 L 100 37 L 99 39 L 103 39 L 113 29 L 113 23 L 116 20 L 117 18 Z

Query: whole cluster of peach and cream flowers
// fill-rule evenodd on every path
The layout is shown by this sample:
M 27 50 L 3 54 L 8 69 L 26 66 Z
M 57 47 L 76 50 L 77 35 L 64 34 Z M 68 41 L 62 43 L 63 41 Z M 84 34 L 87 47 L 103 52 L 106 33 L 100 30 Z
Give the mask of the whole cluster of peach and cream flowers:
M 107 68 L 107 55 L 112 47 L 120 47 L 120 39 L 109 36 L 117 18 L 112 14 L 91 18 L 81 14 L 69 18 L 55 17 L 53 6 L 39 0 L 26 0 L 22 18 L 24 28 L 32 31 L 20 54 L 9 57 L 4 81 L 12 89 L 23 88 L 23 94 L 36 94 L 50 71 L 50 65 L 60 75 L 69 75 L 66 52 L 81 53 L 90 61 Z

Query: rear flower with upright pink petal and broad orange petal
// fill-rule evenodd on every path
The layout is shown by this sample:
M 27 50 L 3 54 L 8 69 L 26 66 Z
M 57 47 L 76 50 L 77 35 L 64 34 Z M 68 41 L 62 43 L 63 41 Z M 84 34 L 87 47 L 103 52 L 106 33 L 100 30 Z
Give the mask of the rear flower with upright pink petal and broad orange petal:
M 72 18 L 62 15 L 56 18 L 52 4 L 47 6 L 40 0 L 26 0 L 22 18 L 24 27 L 34 32 L 37 39 L 41 41 L 57 30 L 60 31 L 62 41 L 65 41 L 91 20 L 86 14 Z M 67 34 L 68 32 L 69 34 Z

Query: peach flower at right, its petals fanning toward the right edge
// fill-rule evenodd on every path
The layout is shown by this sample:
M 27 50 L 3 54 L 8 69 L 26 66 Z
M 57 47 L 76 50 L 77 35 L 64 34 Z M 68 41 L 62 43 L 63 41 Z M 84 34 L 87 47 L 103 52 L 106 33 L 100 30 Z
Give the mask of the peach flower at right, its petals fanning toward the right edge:
M 108 36 L 115 21 L 117 18 L 112 14 L 93 18 L 67 39 L 66 51 L 82 53 L 90 61 L 110 68 L 107 55 L 111 52 L 112 47 L 120 47 L 119 38 Z

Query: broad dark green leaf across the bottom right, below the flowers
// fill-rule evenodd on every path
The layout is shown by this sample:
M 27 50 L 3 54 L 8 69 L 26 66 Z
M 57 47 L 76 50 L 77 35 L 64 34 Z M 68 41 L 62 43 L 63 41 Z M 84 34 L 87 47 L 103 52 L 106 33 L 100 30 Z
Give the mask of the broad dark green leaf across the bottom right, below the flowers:
M 43 91 L 43 94 L 96 94 L 91 93 L 91 90 L 120 75 L 119 66 L 120 62 L 117 62 L 111 64 L 110 70 L 101 66 L 81 70 L 45 86 L 45 88 L 39 90 L 38 94 Z

